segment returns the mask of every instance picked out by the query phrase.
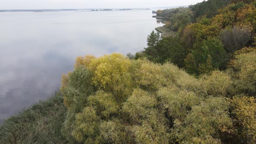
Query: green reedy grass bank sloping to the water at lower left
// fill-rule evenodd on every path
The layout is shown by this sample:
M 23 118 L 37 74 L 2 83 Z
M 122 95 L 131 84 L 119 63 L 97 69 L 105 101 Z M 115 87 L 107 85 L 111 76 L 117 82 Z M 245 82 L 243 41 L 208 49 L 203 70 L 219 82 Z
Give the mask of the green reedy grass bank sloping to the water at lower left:
M 63 97 L 56 92 L 46 101 L 8 118 L 0 126 L 0 144 L 62 144 L 66 117 Z

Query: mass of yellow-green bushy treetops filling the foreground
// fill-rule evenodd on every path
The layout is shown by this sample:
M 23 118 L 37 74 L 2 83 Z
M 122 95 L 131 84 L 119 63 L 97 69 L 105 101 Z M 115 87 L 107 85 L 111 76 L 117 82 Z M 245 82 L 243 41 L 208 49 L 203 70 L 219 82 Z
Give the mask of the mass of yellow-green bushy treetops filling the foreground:
M 79 60 L 79 67 L 62 79 L 69 113 L 62 131 L 69 142 L 86 144 L 253 142 L 256 77 L 251 64 L 256 62 L 238 66 L 254 56 L 253 50 L 244 51 L 233 59 L 233 73 L 213 71 L 199 79 L 171 63 L 118 53 L 82 65 Z M 247 94 L 236 90 L 246 86 L 251 88 Z

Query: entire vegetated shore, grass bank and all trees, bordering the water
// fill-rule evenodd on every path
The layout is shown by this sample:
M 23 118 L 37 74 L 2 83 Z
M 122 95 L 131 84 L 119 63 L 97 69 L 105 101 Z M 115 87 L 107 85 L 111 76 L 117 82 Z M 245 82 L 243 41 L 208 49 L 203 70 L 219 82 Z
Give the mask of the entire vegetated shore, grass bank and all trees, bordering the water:
M 77 57 L 59 92 L 0 126 L 0 144 L 255 144 L 256 0 L 156 13 L 174 36 Z

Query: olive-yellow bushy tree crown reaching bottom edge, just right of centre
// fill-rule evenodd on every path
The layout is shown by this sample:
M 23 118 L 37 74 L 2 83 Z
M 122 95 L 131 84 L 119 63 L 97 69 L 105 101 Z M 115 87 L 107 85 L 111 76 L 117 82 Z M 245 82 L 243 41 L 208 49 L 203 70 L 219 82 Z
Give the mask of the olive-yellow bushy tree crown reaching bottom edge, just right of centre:
M 141 89 L 135 89 L 123 105 L 136 143 L 168 143 L 166 119 L 155 109 L 156 105 L 157 99 Z

